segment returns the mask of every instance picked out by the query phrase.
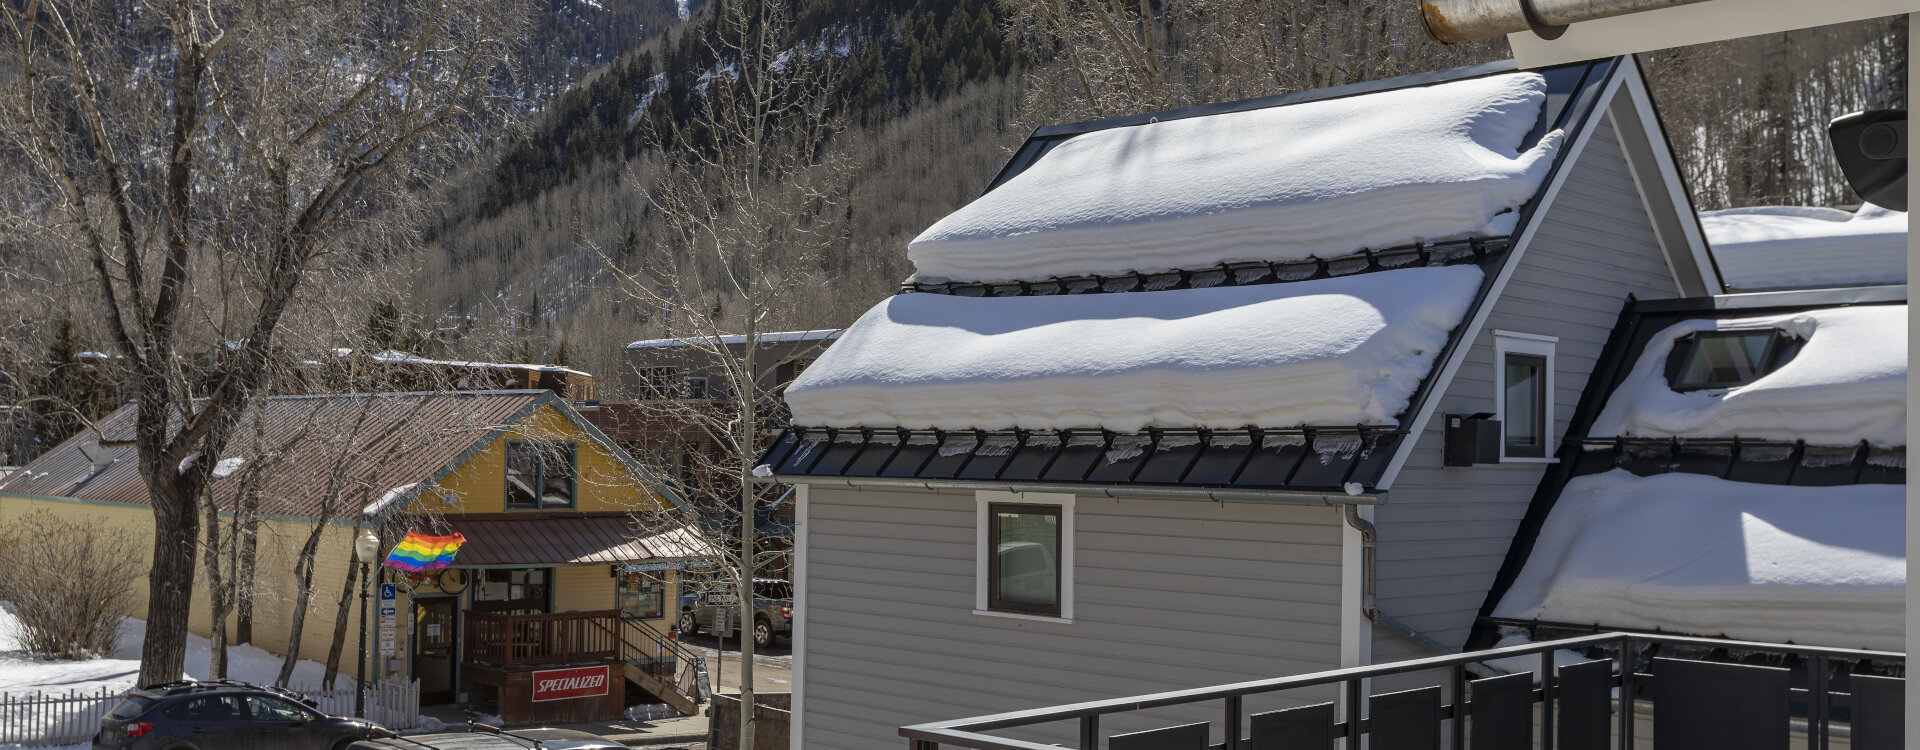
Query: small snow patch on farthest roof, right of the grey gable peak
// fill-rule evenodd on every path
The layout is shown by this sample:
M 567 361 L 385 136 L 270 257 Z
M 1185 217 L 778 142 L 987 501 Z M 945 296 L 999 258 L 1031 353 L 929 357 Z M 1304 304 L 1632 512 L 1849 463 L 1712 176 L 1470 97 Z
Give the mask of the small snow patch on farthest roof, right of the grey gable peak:
M 1705 211 L 1699 226 L 1734 290 L 1907 284 L 1907 213 L 1801 205 Z

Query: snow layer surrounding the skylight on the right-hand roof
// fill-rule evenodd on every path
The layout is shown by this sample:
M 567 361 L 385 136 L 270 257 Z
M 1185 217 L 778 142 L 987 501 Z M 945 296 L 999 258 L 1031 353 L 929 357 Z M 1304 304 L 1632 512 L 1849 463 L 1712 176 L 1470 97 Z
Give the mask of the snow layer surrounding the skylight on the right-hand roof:
M 1751 328 L 1780 328 L 1807 343 L 1741 387 L 1678 393 L 1667 384 L 1667 355 L 1680 338 Z M 1590 435 L 1907 445 L 1907 305 L 1674 324 L 1653 334 Z

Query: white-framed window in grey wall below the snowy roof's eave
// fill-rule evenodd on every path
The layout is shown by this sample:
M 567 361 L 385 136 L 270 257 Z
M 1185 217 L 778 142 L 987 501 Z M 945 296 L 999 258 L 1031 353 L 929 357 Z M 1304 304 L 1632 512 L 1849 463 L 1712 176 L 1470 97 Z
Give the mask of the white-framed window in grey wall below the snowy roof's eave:
M 973 493 L 973 612 L 1073 621 L 1073 495 Z

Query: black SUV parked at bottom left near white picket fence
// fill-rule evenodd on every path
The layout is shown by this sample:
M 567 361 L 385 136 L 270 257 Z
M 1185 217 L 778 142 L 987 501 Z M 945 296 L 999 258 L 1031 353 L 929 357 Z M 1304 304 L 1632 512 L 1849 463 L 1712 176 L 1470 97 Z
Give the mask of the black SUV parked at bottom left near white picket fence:
M 313 706 L 298 692 L 240 681 L 148 685 L 100 719 L 94 750 L 340 750 L 394 737 Z

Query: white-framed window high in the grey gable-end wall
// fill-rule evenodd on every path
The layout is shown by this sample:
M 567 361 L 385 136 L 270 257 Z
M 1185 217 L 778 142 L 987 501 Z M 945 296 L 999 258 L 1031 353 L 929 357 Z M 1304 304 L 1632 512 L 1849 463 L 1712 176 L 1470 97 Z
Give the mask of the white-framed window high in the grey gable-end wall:
M 1553 460 L 1553 336 L 1494 332 L 1500 460 Z

